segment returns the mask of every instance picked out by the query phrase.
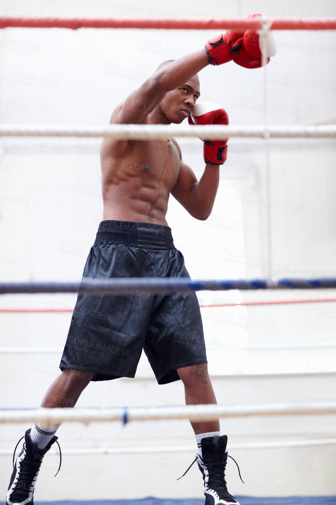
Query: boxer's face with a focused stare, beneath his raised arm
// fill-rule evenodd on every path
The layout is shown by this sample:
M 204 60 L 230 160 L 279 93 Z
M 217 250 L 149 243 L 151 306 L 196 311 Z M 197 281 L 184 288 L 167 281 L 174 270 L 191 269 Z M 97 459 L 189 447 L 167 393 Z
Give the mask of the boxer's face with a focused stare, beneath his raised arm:
M 199 79 L 195 75 L 182 86 L 167 92 L 158 109 L 170 123 L 180 124 L 190 115 L 199 95 Z

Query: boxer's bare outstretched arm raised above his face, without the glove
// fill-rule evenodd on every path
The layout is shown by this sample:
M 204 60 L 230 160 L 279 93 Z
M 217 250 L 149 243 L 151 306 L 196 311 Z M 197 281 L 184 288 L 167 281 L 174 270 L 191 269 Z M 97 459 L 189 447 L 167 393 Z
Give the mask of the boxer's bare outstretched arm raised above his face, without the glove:
M 141 123 L 161 102 L 165 93 L 185 84 L 207 65 L 208 55 L 205 49 L 200 49 L 192 56 L 183 56 L 162 67 L 128 96 L 118 118 L 112 119 L 111 122 Z

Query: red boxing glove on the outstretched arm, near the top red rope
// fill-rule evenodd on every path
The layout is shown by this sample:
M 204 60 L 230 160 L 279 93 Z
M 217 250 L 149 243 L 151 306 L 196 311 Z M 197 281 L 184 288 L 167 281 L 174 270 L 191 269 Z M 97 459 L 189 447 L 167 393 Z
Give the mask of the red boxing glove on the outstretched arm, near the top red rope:
M 247 19 L 262 16 L 262 14 L 251 14 Z M 208 40 L 205 49 L 211 65 L 221 65 L 233 60 L 241 67 L 261 67 L 259 35 L 254 30 L 247 30 L 246 32 L 227 30 L 225 34 Z M 274 56 L 275 54 L 273 49 L 270 53 L 267 56 Z M 269 58 L 267 58 L 266 63 L 269 63 Z

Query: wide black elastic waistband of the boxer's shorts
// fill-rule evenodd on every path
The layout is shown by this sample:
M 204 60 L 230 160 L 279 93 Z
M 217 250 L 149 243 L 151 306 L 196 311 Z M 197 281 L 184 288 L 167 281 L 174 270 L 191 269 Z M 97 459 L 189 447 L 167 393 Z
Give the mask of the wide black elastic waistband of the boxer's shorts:
M 169 226 L 132 221 L 101 221 L 95 244 L 123 244 L 144 249 L 175 249 Z

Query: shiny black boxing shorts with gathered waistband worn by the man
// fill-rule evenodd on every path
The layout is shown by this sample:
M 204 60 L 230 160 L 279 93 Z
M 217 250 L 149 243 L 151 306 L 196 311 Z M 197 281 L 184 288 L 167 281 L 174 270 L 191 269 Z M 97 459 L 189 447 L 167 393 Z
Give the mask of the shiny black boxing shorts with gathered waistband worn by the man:
M 100 223 L 85 277 L 190 278 L 171 228 L 129 221 Z M 207 362 L 194 292 L 79 294 L 60 368 L 91 372 L 93 381 L 134 377 L 142 349 L 159 384 L 179 380 L 178 368 Z

